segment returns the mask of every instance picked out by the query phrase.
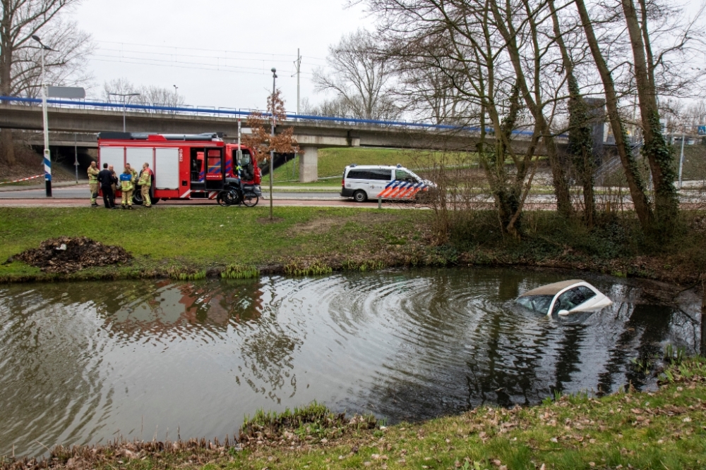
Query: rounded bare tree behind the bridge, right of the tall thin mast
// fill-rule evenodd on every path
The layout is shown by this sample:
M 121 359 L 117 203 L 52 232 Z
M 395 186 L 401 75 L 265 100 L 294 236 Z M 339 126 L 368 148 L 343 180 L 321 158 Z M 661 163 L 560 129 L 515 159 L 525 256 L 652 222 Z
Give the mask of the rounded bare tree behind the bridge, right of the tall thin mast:
M 329 47 L 329 70 L 316 70 L 318 91 L 332 91 L 352 115 L 361 119 L 394 119 L 400 109 L 387 96 L 392 70 L 376 54 L 376 42 L 366 30 L 358 30 Z

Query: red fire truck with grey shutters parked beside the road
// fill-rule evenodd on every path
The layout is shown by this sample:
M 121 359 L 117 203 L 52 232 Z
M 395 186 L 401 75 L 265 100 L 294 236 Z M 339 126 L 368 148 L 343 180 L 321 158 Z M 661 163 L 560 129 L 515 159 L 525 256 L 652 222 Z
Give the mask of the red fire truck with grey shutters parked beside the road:
M 152 168 L 150 199 L 216 199 L 234 187 L 241 194 L 261 192 L 261 171 L 253 149 L 226 144 L 218 133 L 150 134 L 136 132 L 100 132 L 98 167 L 112 165 L 120 174 L 126 163 L 138 173 L 143 163 Z M 119 190 L 116 197 L 120 194 Z M 249 199 L 252 201 L 252 198 Z M 139 187 L 134 204 L 142 204 Z M 247 205 L 255 205 L 247 204 Z

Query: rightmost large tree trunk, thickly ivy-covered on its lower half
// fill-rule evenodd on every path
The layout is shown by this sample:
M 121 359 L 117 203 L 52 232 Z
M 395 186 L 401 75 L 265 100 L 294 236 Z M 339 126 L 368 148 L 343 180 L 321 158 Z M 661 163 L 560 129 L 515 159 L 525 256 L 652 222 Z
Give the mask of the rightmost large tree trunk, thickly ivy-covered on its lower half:
M 633 49 L 635 84 L 638 87 L 642 135 L 645 138 L 642 154 L 650 163 L 654 182 L 654 214 L 657 216 L 659 225 L 666 226 L 676 217 L 679 203 L 674 187 L 676 174 L 672 166 L 671 151 L 667 147 L 659 125 L 657 90 L 654 88 L 654 64 L 648 63 L 645 56 L 645 47 L 649 47 L 649 44 L 645 44 L 643 37 L 649 38 L 649 35 L 647 30 L 642 30 L 640 27 L 633 0 L 622 0 L 621 3 L 630 35 L 630 47 Z M 645 8 L 644 3 L 642 8 Z M 643 27 L 646 28 L 647 24 L 643 24 Z M 649 55 L 651 58 L 651 51 Z

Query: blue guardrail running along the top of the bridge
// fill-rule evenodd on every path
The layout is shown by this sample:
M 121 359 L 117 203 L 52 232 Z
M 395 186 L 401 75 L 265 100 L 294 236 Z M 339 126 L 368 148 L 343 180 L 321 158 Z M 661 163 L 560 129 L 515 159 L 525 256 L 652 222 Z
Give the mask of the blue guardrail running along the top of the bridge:
M 28 103 L 28 104 L 41 104 L 42 99 L 40 98 L 25 98 L 25 97 L 5 97 L 0 96 L 0 102 L 5 103 L 8 101 L 15 101 L 18 103 Z M 237 109 L 224 109 L 224 108 L 196 108 L 192 106 L 157 106 L 154 104 L 120 104 L 120 103 L 104 103 L 102 101 L 76 101 L 67 99 L 47 99 L 47 104 L 59 104 L 64 106 L 70 106 L 73 108 L 86 108 L 93 107 L 98 109 L 133 109 L 137 111 L 166 111 L 168 113 L 188 113 L 188 114 L 210 114 L 218 116 L 237 116 L 237 117 L 247 117 L 254 112 L 261 111 L 241 111 Z M 261 112 L 262 113 L 262 112 Z M 263 116 L 269 116 L 268 113 L 262 113 Z M 403 120 L 377 120 L 377 119 L 360 119 L 360 118 L 345 118 L 337 116 L 312 116 L 308 114 L 294 114 L 287 113 L 287 119 L 301 119 L 301 120 L 315 120 L 322 122 L 338 122 L 338 123 L 350 123 L 350 124 L 369 124 L 369 125 L 383 125 L 390 127 L 407 127 L 407 128 L 419 128 L 419 129 L 433 129 L 433 130 L 462 130 L 466 132 L 480 132 L 481 128 L 471 127 L 471 126 L 459 126 L 451 124 L 427 124 L 427 123 L 413 123 Z M 492 128 L 486 128 L 486 132 L 493 134 Z M 533 135 L 529 130 L 514 130 L 514 135 Z

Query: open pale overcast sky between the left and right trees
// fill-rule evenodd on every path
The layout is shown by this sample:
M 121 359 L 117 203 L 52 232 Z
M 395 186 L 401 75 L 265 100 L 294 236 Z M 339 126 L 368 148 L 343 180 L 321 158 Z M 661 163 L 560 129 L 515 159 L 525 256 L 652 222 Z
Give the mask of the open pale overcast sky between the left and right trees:
M 84 0 L 70 16 L 97 49 L 92 94 L 113 78 L 179 87 L 187 104 L 263 109 L 272 73 L 287 111 L 297 108 L 294 61 L 301 49 L 301 98 L 320 101 L 311 73 L 330 44 L 371 27 L 346 0 Z

